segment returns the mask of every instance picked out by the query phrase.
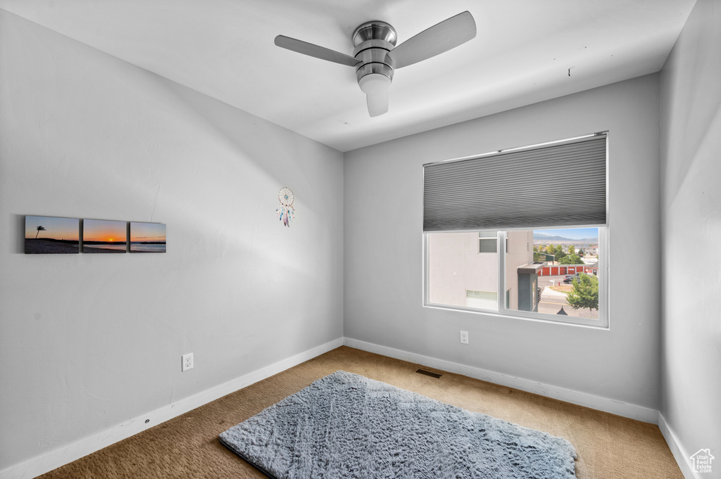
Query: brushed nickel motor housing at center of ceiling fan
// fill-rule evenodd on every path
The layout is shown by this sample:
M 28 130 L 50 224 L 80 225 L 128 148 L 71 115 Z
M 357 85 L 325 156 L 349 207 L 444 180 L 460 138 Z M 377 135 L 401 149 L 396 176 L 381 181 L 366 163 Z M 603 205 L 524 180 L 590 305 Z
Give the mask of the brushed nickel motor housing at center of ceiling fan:
M 373 20 L 361 24 L 353 32 L 353 57 L 361 61 L 355 68 L 355 78 L 361 79 L 371 73 L 380 73 L 393 79 L 394 65 L 388 52 L 395 48 L 396 30 L 386 22 Z

